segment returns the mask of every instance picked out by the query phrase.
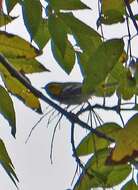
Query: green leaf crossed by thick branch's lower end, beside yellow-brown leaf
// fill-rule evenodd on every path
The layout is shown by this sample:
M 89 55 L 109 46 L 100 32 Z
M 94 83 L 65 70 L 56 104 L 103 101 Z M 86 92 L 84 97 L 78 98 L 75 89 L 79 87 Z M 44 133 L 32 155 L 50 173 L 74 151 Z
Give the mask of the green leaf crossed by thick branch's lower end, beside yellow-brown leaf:
M 116 123 L 105 123 L 100 127 L 96 128 L 98 131 L 103 132 L 107 136 L 111 138 L 115 138 L 115 134 L 121 127 Z M 95 151 L 97 152 L 100 149 L 107 148 L 110 142 L 99 138 L 93 133 L 89 133 L 86 137 L 82 139 L 80 144 L 76 148 L 76 152 L 78 156 L 85 156 L 88 154 L 92 154 Z

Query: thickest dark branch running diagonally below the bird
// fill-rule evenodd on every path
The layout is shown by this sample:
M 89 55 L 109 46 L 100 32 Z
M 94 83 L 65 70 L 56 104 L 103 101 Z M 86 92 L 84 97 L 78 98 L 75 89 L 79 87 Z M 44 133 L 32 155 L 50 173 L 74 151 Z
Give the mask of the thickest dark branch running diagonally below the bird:
M 114 139 L 112 139 L 111 137 L 107 136 L 106 134 L 91 128 L 87 123 L 85 123 L 84 121 L 80 120 L 77 115 L 75 115 L 72 112 L 67 112 L 66 110 L 64 110 L 62 107 L 60 107 L 59 105 L 57 105 L 56 103 L 54 103 L 53 101 L 51 101 L 49 98 L 47 98 L 42 92 L 40 92 L 39 90 L 37 90 L 36 88 L 34 88 L 29 82 L 28 80 L 26 80 L 26 78 L 20 73 L 18 72 L 13 66 L 12 64 L 0 53 L 0 63 L 9 71 L 9 73 L 15 77 L 18 81 L 20 81 L 26 88 L 28 88 L 30 90 L 30 92 L 32 92 L 36 97 L 40 98 L 41 100 L 43 100 L 44 102 L 46 102 L 47 104 L 49 104 L 50 106 L 52 106 L 53 108 L 55 108 L 57 111 L 59 111 L 62 115 L 64 115 L 71 123 L 74 122 L 78 125 L 80 125 L 81 127 L 93 132 L 95 135 L 97 135 L 98 137 L 104 138 L 106 140 L 109 140 L 111 142 L 114 142 Z

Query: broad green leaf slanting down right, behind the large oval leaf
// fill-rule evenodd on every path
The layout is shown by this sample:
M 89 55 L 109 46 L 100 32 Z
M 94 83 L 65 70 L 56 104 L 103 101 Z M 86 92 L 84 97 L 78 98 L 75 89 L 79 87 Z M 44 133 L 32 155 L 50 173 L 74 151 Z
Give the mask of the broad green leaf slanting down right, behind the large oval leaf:
M 80 46 L 87 56 L 92 55 L 102 42 L 101 36 L 90 26 L 75 18 L 72 13 L 62 13 L 59 15 L 72 32 L 78 46 Z

